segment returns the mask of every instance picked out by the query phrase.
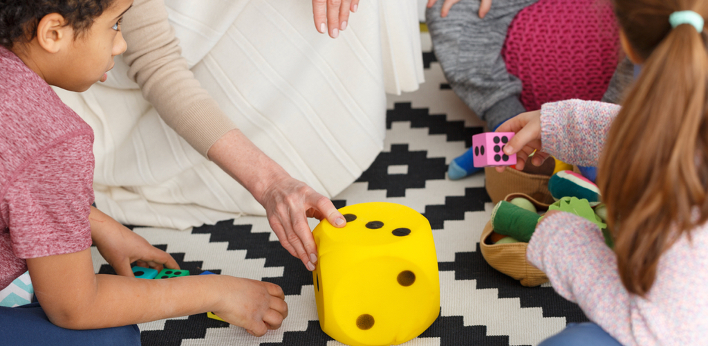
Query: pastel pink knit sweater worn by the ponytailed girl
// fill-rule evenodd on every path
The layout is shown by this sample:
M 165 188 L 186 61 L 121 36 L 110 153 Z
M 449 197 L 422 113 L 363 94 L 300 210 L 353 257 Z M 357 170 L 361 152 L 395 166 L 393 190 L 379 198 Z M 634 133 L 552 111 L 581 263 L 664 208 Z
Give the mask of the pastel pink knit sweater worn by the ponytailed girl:
M 595 165 L 619 106 L 596 101 L 544 104 L 544 151 L 573 164 Z M 615 253 L 600 229 L 569 213 L 537 226 L 527 259 L 554 289 L 622 345 L 708 345 L 708 225 L 692 230 L 660 259 L 646 298 L 629 294 Z

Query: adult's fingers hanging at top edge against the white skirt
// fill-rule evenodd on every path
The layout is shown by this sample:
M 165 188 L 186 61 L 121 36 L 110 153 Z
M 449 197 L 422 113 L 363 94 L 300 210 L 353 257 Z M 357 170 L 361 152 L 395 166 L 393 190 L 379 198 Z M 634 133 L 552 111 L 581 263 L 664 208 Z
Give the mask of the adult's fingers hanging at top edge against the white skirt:
M 329 32 L 337 38 L 339 31 L 347 28 L 349 11 L 356 12 L 359 0 L 312 0 L 314 26 L 320 33 Z

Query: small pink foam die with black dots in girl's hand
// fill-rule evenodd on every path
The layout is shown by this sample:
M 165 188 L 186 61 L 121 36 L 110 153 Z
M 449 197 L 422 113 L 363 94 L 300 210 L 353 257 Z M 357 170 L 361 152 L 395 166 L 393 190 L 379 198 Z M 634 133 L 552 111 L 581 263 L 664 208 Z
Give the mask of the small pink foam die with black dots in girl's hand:
M 513 132 L 486 132 L 473 135 L 474 167 L 516 164 L 516 154 L 508 156 L 501 150 L 513 136 Z

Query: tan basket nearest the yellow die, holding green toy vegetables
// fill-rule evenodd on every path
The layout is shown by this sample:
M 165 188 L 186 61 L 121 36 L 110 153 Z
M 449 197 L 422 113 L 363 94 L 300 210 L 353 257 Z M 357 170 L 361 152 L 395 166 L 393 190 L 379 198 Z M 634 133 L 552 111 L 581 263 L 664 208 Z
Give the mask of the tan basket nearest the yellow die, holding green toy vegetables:
M 511 201 L 516 197 L 528 199 L 539 211 L 545 211 L 549 206 L 547 203 L 536 201 L 536 199 L 533 199 L 527 194 L 508 194 L 504 198 L 504 201 Z M 493 244 L 487 240 L 492 232 L 493 229 L 490 220 L 484 226 L 481 239 L 479 240 L 479 247 L 482 252 L 482 257 L 484 257 L 486 262 L 489 263 L 491 267 L 499 272 L 513 277 L 516 280 L 519 280 L 523 286 L 532 287 L 548 282 L 548 277 L 546 277 L 546 274 L 541 272 L 536 267 L 533 267 L 526 261 L 527 242 Z

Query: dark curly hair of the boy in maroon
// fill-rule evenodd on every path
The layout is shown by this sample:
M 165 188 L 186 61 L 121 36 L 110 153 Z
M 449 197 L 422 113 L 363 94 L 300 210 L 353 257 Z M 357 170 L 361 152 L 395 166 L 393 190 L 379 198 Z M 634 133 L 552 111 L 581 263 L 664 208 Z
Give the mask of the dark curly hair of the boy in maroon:
M 37 35 L 44 16 L 59 13 L 77 37 L 93 25 L 93 19 L 110 8 L 113 0 L 0 0 L 0 45 L 11 49 Z

